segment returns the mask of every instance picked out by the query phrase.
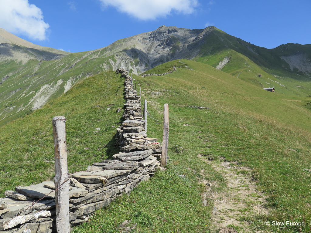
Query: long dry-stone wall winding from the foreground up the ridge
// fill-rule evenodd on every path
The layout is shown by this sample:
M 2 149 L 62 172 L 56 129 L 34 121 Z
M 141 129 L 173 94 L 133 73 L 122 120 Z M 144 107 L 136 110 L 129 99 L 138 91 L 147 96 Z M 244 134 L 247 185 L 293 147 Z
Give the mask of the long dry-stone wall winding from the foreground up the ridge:
M 113 160 L 105 159 L 88 166 L 86 171 L 70 174 L 71 226 L 86 222 L 92 214 L 123 193 L 148 180 L 160 167 L 161 145 L 144 131 L 140 96 L 125 70 L 125 111 L 117 128 L 116 144 L 120 152 Z M 55 190 L 53 181 L 16 187 L 0 198 L 0 233 L 51 233 L 55 226 Z

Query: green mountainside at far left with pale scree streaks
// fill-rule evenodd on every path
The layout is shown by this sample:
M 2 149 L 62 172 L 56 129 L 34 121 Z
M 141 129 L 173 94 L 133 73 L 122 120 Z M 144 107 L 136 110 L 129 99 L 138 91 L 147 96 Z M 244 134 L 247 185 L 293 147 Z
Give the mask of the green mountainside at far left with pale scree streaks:
M 1 73 L 10 74 L 10 78 L 0 86 L 1 124 L 43 106 L 62 95 L 79 80 L 112 68 L 103 68 L 102 65 L 110 57 L 94 61 L 86 56 L 92 53 L 71 53 L 53 61 L 29 60 L 26 64 L 10 61 L 0 64 Z

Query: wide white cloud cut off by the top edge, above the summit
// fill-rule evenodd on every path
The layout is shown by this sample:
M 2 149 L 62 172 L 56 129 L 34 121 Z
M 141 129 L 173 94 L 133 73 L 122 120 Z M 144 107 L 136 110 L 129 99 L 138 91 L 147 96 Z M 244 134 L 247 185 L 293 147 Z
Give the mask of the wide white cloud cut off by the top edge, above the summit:
M 169 15 L 171 11 L 191 14 L 198 6 L 197 0 L 100 0 L 104 6 L 112 6 L 118 11 L 141 19 L 152 20 Z

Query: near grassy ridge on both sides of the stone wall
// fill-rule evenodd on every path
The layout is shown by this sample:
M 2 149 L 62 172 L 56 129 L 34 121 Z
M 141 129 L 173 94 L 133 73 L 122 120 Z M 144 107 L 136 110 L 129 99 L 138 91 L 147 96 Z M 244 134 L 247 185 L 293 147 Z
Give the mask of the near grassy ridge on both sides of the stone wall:
M 252 203 L 241 210 L 240 221 L 254 231 L 278 230 L 263 224 L 265 221 L 309 223 L 311 113 L 299 104 L 303 98 L 271 93 L 209 65 L 184 59 L 148 72 L 170 71 L 173 66 L 177 71 L 168 75 L 133 75 L 142 99 L 148 101 L 152 117 L 148 117 L 148 135 L 160 142 L 163 104 L 169 103 L 167 170 L 157 172 L 129 197 L 124 195 L 75 232 L 118 232 L 119 224 L 127 219 L 137 223 L 141 232 L 215 232 L 213 203 L 210 200 L 202 206 L 204 187 L 197 179 L 216 184 L 211 192 L 225 192 L 228 187 L 222 174 L 198 154 L 250 168 L 243 174 L 249 172 L 248 176 L 257 180 L 258 190 L 268 196 L 265 208 L 269 214 L 252 212 Z M 45 161 L 53 160 L 51 120 L 56 115 L 67 118 L 71 172 L 116 153 L 115 128 L 111 126 L 119 125 L 121 114 L 115 110 L 123 103 L 123 79 L 110 71 L 86 78 L 42 109 L 2 126 L 1 194 L 16 185 L 52 178 L 53 163 Z M 100 132 L 95 132 L 97 127 Z M 87 147 L 90 149 L 84 149 Z M 299 229 L 291 226 L 282 232 Z

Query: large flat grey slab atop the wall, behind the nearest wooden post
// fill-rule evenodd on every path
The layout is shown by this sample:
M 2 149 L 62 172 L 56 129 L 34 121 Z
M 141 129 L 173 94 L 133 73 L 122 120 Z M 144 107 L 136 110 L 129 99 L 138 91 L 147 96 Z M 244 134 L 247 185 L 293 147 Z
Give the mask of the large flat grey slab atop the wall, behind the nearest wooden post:
M 30 185 L 25 187 L 19 186 L 15 188 L 15 191 L 31 198 L 40 199 L 45 197 L 55 199 L 55 191 L 44 187 L 45 184 L 50 182 L 51 181 L 44 181 L 37 185 Z M 85 189 L 73 187 L 72 190 L 69 191 L 69 197 L 85 196 L 87 193 L 88 191 Z

